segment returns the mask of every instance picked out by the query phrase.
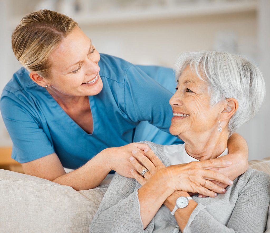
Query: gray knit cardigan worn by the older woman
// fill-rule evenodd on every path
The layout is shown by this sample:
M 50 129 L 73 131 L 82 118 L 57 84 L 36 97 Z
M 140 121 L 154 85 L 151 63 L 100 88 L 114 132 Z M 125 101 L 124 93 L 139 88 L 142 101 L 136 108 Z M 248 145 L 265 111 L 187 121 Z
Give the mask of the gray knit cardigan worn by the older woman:
M 146 143 L 165 166 L 170 162 L 163 146 Z M 167 207 L 162 205 L 146 229 L 140 216 L 137 190 L 141 185 L 135 180 L 115 174 L 90 225 L 90 232 L 170 232 L 177 221 Z M 215 198 L 192 196 L 198 203 L 184 232 L 264 232 L 270 201 L 270 176 L 248 169 L 234 180 L 225 194 Z

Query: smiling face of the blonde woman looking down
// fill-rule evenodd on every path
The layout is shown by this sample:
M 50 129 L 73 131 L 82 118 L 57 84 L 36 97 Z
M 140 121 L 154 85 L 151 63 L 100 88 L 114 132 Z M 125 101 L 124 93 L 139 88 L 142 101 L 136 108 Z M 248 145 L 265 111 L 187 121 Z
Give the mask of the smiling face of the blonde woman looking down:
M 53 50 L 47 83 L 54 92 L 69 96 L 98 94 L 103 87 L 99 76 L 100 55 L 91 40 L 76 27 Z

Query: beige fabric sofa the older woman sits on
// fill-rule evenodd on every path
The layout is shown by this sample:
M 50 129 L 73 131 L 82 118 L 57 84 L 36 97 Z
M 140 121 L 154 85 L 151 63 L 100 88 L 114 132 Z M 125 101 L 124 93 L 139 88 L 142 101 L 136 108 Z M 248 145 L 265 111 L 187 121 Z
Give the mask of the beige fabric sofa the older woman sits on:
M 249 167 L 270 174 L 270 157 L 250 161 Z M 111 178 L 96 189 L 75 191 L 0 169 L 0 232 L 88 232 Z M 267 229 L 270 233 L 270 217 Z

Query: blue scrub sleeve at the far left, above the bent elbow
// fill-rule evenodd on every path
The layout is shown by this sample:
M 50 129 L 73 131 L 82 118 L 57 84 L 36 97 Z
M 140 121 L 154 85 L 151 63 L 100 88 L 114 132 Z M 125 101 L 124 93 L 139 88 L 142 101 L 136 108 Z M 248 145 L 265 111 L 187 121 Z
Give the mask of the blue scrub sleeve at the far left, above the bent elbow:
M 52 143 L 26 101 L 4 90 L 1 114 L 13 142 L 13 159 L 26 163 L 54 153 Z

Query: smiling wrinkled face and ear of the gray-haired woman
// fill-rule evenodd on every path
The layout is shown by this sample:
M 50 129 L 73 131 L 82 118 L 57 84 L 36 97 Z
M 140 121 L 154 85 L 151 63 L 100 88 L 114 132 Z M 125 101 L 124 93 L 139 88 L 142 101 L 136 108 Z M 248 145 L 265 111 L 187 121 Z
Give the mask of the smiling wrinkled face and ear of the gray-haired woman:
M 207 83 L 186 67 L 177 81 L 176 92 L 170 99 L 173 108 L 170 133 L 186 135 L 217 130 L 224 103 L 210 106 Z M 183 114 L 183 115 L 182 115 Z

